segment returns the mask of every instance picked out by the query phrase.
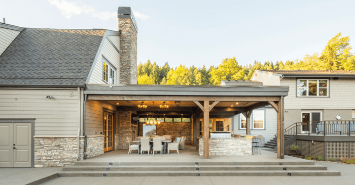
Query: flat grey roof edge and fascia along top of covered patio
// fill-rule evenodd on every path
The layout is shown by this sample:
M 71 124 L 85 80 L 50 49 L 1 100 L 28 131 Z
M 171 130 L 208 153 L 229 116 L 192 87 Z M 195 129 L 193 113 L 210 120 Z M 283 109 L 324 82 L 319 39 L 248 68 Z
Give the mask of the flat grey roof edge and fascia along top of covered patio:
M 289 86 L 87 84 L 87 95 L 130 96 L 288 96 Z

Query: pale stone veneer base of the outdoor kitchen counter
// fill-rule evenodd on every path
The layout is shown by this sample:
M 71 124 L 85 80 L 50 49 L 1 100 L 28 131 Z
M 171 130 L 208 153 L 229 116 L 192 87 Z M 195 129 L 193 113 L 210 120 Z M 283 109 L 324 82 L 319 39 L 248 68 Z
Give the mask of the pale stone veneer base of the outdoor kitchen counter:
M 203 139 L 199 140 L 198 153 L 203 155 Z M 209 138 L 210 156 L 252 155 L 252 138 Z

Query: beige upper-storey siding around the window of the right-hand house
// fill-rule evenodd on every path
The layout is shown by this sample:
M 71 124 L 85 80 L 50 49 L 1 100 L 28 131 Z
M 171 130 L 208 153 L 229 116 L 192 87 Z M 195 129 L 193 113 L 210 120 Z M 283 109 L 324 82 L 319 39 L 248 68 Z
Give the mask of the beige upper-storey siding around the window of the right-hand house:
M 355 78 L 330 80 L 330 97 L 296 97 L 296 78 L 282 78 L 281 85 L 290 87 L 285 97 L 285 109 L 353 109 L 355 107 Z

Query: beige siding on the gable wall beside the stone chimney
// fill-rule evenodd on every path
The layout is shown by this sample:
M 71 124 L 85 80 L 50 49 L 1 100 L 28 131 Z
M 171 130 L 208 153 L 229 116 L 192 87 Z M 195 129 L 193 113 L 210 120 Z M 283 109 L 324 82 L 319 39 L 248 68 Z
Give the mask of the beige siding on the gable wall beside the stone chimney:
M 117 38 L 118 37 L 118 38 Z M 119 49 L 119 36 L 110 36 L 112 42 L 116 45 L 116 48 Z M 96 64 L 90 76 L 89 83 L 102 84 L 106 83 L 102 81 L 102 56 L 104 56 L 109 62 L 116 68 L 116 83 L 120 81 L 120 54 L 116 51 L 110 41 L 105 38 L 99 57 L 97 58 Z

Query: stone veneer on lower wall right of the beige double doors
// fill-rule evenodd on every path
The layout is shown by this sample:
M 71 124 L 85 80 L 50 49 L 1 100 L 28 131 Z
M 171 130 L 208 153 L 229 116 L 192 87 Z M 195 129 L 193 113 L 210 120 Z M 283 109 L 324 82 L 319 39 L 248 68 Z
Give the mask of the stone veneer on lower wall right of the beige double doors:
M 81 136 L 80 160 L 84 159 L 84 140 Z M 67 166 L 77 161 L 77 154 L 76 136 L 34 136 L 34 167 Z M 87 154 L 87 158 L 103 154 L 103 135 L 88 136 Z

